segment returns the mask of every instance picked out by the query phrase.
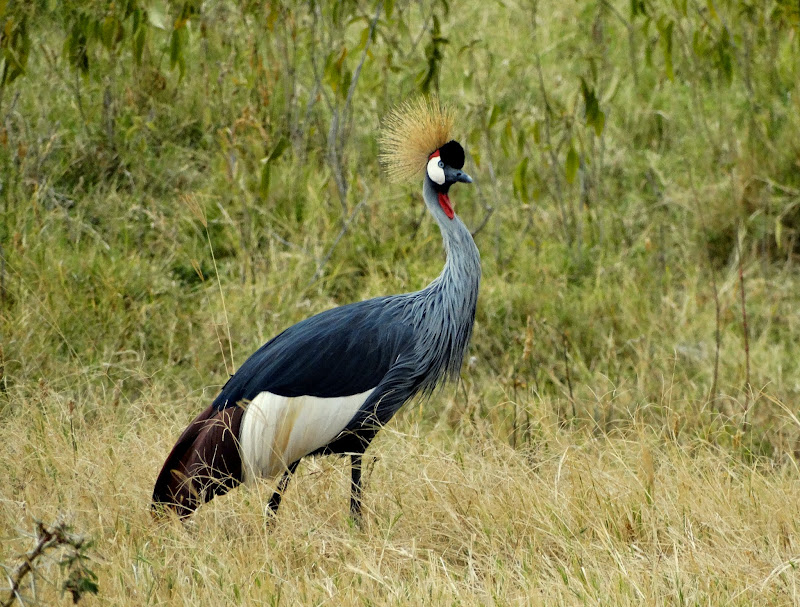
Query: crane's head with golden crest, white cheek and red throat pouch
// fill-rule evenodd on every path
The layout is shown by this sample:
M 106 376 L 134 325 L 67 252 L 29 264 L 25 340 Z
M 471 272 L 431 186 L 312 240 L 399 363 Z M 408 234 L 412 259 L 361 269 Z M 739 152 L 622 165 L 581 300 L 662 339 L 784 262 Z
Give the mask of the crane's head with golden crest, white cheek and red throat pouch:
M 448 192 L 456 182 L 472 183 L 464 168 L 464 148 L 450 139 L 453 115 L 435 99 L 406 102 L 384 121 L 381 162 L 392 181 L 404 181 L 422 169 L 448 218 L 455 216 Z

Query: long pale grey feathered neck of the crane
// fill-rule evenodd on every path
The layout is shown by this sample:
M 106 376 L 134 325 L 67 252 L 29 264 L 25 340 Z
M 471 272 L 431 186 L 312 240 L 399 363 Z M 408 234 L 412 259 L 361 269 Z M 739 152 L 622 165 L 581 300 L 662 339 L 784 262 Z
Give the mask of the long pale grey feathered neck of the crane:
M 447 254 L 442 273 L 417 294 L 412 310 L 421 388 L 429 392 L 443 377 L 459 375 L 475 322 L 481 259 L 472 234 L 457 216 L 447 217 L 427 176 L 423 197 Z

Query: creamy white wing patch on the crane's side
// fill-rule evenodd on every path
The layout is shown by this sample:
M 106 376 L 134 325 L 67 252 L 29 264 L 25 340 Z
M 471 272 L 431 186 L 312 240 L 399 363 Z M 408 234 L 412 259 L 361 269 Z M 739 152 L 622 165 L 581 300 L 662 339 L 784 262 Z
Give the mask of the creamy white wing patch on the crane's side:
M 262 392 L 244 412 L 239 440 L 245 480 L 275 478 L 344 430 L 372 390 L 352 396 L 278 396 Z

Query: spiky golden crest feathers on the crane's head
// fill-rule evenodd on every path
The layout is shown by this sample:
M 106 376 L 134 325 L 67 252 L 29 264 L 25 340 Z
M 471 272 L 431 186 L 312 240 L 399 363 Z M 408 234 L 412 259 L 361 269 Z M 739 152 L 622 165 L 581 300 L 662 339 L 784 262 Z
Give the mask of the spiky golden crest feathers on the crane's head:
M 438 99 L 424 97 L 396 107 L 384 120 L 380 161 L 394 182 L 414 177 L 428 156 L 450 141 L 454 117 Z

